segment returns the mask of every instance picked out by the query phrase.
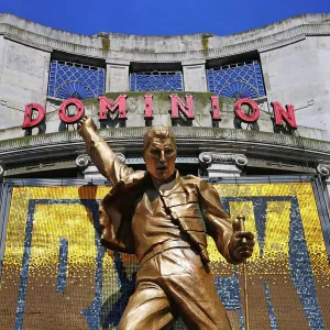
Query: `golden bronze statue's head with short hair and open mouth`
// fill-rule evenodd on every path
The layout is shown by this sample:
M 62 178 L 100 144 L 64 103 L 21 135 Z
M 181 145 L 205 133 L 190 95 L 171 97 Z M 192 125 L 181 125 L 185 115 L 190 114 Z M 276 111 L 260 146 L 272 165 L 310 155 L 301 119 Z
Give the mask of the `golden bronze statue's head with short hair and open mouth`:
M 143 136 L 146 169 L 158 185 L 172 180 L 175 170 L 176 143 L 173 131 L 153 127 Z

